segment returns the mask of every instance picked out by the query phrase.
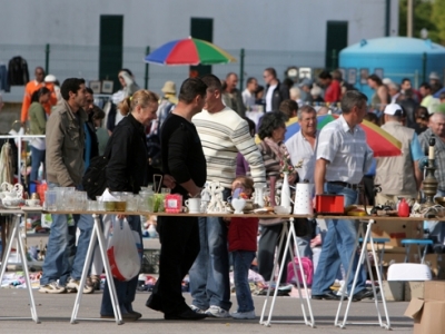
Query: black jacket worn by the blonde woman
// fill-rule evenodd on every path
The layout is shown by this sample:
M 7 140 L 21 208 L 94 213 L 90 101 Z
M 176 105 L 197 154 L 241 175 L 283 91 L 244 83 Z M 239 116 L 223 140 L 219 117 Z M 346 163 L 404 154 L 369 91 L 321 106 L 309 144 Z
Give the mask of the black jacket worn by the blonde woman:
M 128 115 L 115 128 L 108 146 L 107 186 L 111 191 L 139 193 L 147 186 L 148 155 L 145 127 Z M 107 149 L 106 149 L 107 150 Z

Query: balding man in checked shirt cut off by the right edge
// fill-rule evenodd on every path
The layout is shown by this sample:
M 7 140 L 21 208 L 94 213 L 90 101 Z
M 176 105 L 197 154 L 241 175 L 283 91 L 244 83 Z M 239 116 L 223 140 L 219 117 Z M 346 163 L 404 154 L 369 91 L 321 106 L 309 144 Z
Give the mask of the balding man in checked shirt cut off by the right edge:
M 436 196 L 445 196 L 445 114 L 434 112 L 429 117 L 428 129 L 418 136 L 422 150 L 428 155 L 429 138 L 434 135 L 436 144 L 434 146 L 434 156 L 436 160 L 435 177 L 437 179 Z M 445 224 L 444 222 L 427 222 L 429 237 L 433 237 L 435 243 L 444 245 L 445 240 Z

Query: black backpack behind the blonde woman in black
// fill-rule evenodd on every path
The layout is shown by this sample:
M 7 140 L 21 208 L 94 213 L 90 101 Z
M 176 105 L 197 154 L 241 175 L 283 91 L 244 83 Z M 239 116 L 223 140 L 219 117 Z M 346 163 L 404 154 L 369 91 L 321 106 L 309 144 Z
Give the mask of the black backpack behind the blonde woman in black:
M 111 138 L 108 141 L 103 156 L 93 157 L 82 177 L 83 190 L 90 199 L 101 196 L 107 188 L 106 168 L 111 153 Z

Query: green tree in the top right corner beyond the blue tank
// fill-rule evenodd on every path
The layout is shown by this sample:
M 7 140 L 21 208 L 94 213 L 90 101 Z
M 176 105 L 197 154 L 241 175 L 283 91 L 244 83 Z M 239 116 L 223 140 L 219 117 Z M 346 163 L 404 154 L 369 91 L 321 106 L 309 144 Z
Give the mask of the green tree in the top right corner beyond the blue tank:
M 406 33 L 406 21 L 407 21 L 407 0 L 400 0 L 398 2 L 398 35 L 407 36 Z M 436 10 L 437 2 L 445 6 L 444 0 L 435 0 L 433 4 L 428 0 L 414 0 L 414 32 L 413 37 L 421 38 L 421 30 L 425 28 L 428 30 L 428 38 L 435 42 L 439 42 L 439 31 L 435 21 L 433 21 L 433 7 Z M 443 9 L 445 10 L 445 9 Z M 444 12 L 445 13 L 445 12 Z M 445 17 L 444 17 L 445 18 Z

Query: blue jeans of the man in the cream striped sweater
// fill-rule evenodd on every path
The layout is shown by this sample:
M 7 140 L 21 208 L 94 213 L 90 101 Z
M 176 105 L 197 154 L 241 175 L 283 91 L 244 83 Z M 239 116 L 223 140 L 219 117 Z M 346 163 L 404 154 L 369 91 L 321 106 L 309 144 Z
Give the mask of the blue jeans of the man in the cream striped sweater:
M 228 311 L 230 303 L 227 226 L 222 218 L 199 217 L 200 250 L 189 271 L 192 304 L 200 310 L 210 305 Z

